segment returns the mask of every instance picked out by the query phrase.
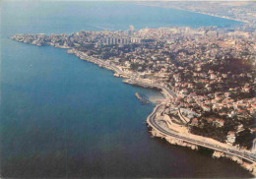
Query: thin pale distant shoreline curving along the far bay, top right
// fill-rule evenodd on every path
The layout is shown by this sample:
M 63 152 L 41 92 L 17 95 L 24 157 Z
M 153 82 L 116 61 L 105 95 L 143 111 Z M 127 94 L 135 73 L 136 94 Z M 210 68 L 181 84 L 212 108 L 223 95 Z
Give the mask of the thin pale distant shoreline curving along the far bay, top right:
M 160 5 L 140 4 L 140 3 L 137 3 L 137 4 L 142 5 L 142 6 L 159 7 L 159 8 L 165 8 L 165 9 L 176 9 L 176 10 L 186 11 L 186 12 L 190 12 L 190 13 L 196 13 L 196 14 L 207 15 L 207 16 L 212 16 L 212 17 L 216 17 L 216 18 L 222 18 L 222 19 L 225 19 L 225 20 L 236 21 L 236 22 L 245 23 L 245 24 L 249 23 L 247 21 L 243 21 L 243 20 L 239 20 L 239 19 L 233 19 L 233 18 L 229 18 L 229 17 L 222 17 L 222 16 L 209 14 L 209 13 L 204 13 L 204 12 L 195 12 L 195 11 L 186 10 L 186 9 L 182 9 L 182 8 L 178 8 L 178 7 L 163 7 L 163 6 L 160 6 Z

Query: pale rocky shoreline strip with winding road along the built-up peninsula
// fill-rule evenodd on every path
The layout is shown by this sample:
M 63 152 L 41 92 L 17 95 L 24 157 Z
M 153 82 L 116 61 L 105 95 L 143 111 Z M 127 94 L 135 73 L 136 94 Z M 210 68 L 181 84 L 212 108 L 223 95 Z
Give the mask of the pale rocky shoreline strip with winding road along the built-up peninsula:
M 23 42 L 23 41 L 20 41 L 20 42 Z M 37 44 L 35 44 L 35 45 L 37 45 Z M 105 69 L 113 71 L 114 72 L 114 74 L 113 74 L 114 77 L 124 78 L 123 83 L 127 83 L 127 84 L 130 84 L 130 85 L 135 85 L 135 86 L 139 86 L 139 87 L 144 87 L 144 88 L 160 89 L 160 92 L 162 93 L 163 97 L 165 98 L 165 101 L 161 101 L 160 105 L 166 104 L 166 101 L 168 99 L 172 98 L 173 96 L 174 97 L 176 96 L 176 94 L 172 90 L 168 89 L 164 85 L 155 84 L 155 83 L 151 82 L 150 80 L 139 79 L 139 81 L 138 81 L 134 77 L 133 73 L 125 73 L 123 70 L 120 69 L 121 67 L 119 67 L 117 65 L 114 65 L 111 62 L 105 62 L 105 61 L 97 59 L 97 58 L 95 58 L 93 56 L 88 56 L 85 52 L 76 50 L 75 48 L 71 48 L 70 46 L 67 46 L 67 45 L 52 45 L 52 44 L 50 44 L 50 45 L 53 46 L 53 47 L 67 49 L 66 53 L 75 54 L 81 60 L 85 60 L 85 61 L 88 61 L 88 62 L 95 63 L 99 67 L 102 67 L 102 68 L 105 68 Z M 37 45 L 37 46 L 40 46 L 40 45 Z M 149 127 L 151 127 L 152 129 L 154 129 L 154 126 L 153 126 L 152 122 L 156 123 L 157 119 L 155 117 L 156 116 L 155 114 L 160 109 L 160 105 L 156 105 L 154 110 L 153 110 L 153 112 L 147 118 L 147 121 L 146 121 L 147 125 Z M 150 119 L 153 119 L 153 121 L 150 120 Z M 197 137 L 200 137 L 200 136 L 195 136 L 194 135 L 195 138 L 190 138 L 188 140 L 188 138 L 182 137 L 183 134 L 182 135 L 181 134 L 178 134 L 178 135 L 177 134 L 176 135 L 173 135 L 173 134 L 166 135 L 165 134 L 164 135 L 164 134 L 162 134 L 160 132 L 161 130 L 162 129 L 156 129 L 155 128 L 155 130 L 152 130 L 150 132 L 151 132 L 151 134 L 154 137 L 160 137 L 161 139 L 166 140 L 167 143 L 172 144 L 172 145 L 178 145 L 178 146 L 181 146 L 181 147 L 188 147 L 188 148 L 191 148 L 191 149 L 198 149 L 198 147 L 209 148 L 209 146 L 207 147 L 207 146 L 204 146 L 204 145 L 200 145 L 199 143 L 191 143 L 191 141 L 198 142 Z M 175 132 L 177 132 L 177 131 L 175 131 Z M 184 138 L 186 138 L 186 139 L 184 139 Z M 204 137 L 202 137 L 202 138 L 204 138 Z M 212 143 L 212 141 L 211 141 L 212 139 L 207 139 L 207 138 L 205 138 L 205 139 L 206 140 L 210 140 L 209 142 Z M 211 144 L 211 143 L 208 143 L 208 144 Z M 220 147 L 222 147 L 223 145 L 224 144 L 220 145 Z M 213 149 L 213 148 L 209 148 L 209 149 Z M 229 151 L 228 148 L 225 148 L 225 149 L 227 151 Z M 247 163 L 247 162 L 243 162 L 240 159 L 240 158 L 242 158 L 242 154 L 241 153 L 243 153 L 243 152 L 245 153 L 245 151 L 242 151 L 242 150 L 238 151 L 237 149 L 234 149 L 233 151 L 236 151 L 236 152 L 238 151 L 240 155 L 237 155 L 235 153 L 233 153 L 233 155 L 231 155 L 230 152 L 229 152 L 229 154 L 226 154 L 226 151 L 224 151 L 224 150 L 223 151 L 219 151 L 218 149 L 217 150 L 213 149 L 213 150 L 215 151 L 214 154 L 213 154 L 213 157 L 222 157 L 223 156 L 223 157 L 230 158 L 231 160 L 236 161 L 238 164 L 240 164 L 243 168 L 245 168 L 248 171 L 250 171 L 251 174 L 256 176 L 256 162 L 253 160 L 251 162 L 251 164 L 250 164 L 250 163 Z M 246 159 L 246 157 L 243 157 L 243 158 Z M 248 159 L 248 157 L 247 157 L 247 159 Z

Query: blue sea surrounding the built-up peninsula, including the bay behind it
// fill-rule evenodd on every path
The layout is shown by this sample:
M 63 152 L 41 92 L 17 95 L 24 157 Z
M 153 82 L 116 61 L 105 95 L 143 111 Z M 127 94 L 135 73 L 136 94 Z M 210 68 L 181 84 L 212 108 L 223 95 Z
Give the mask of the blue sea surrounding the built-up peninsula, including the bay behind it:
M 10 39 L 19 33 L 239 22 L 128 2 L 1 1 L 0 6 L 2 178 L 251 177 L 229 159 L 214 159 L 210 150 L 153 138 L 145 121 L 156 103 L 142 105 L 135 92 L 160 98 L 158 90 L 124 84 L 65 49 Z

